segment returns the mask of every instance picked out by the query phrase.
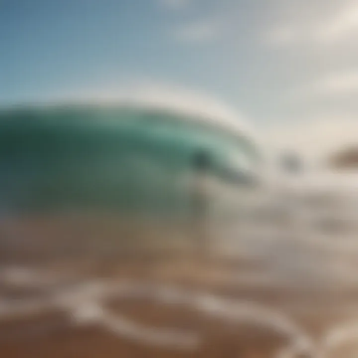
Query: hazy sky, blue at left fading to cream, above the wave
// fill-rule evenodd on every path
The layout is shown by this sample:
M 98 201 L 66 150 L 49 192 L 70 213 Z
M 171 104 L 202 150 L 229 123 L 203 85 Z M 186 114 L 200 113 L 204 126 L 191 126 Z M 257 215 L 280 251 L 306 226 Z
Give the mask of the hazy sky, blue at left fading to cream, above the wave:
M 0 0 L 0 104 L 133 87 L 305 153 L 358 140 L 358 0 Z

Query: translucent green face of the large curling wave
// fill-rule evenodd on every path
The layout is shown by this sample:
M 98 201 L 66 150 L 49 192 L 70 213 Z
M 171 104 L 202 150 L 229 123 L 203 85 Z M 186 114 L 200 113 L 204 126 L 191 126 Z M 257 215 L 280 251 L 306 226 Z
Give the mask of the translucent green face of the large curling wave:
M 3 110 L 2 208 L 185 213 L 191 193 L 184 178 L 197 150 L 209 153 L 210 174 L 223 180 L 229 156 L 257 160 L 245 137 L 165 111 L 129 106 Z

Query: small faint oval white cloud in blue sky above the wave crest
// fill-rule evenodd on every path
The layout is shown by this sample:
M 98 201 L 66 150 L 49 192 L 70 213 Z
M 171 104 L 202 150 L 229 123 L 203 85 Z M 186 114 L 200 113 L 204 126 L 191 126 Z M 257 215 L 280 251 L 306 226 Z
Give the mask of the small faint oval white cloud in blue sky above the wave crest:
M 177 28 L 176 38 L 188 43 L 207 43 L 220 33 L 220 25 L 212 20 L 198 20 Z

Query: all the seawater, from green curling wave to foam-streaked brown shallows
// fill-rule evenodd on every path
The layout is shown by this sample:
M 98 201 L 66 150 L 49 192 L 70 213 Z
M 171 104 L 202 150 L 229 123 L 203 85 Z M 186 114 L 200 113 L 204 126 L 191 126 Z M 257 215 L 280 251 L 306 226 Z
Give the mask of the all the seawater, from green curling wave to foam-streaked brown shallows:
M 357 357 L 354 173 L 238 185 L 227 137 L 40 113 L 1 123 L 0 355 Z

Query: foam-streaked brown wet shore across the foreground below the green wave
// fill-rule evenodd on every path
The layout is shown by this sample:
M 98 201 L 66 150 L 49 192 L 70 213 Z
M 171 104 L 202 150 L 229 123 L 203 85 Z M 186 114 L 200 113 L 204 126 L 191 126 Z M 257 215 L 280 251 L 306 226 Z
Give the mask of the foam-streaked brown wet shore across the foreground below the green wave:
M 4 222 L 2 234 L 18 241 L 3 241 L 0 352 L 352 357 L 356 228 L 327 229 L 324 210 L 302 205 L 245 206 L 246 216 L 216 216 L 203 229 L 115 216 Z M 206 233 L 210 254 L 197 256 L 193 230 Z

